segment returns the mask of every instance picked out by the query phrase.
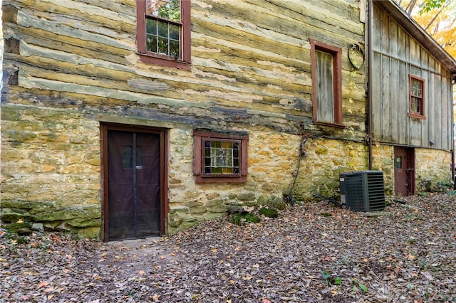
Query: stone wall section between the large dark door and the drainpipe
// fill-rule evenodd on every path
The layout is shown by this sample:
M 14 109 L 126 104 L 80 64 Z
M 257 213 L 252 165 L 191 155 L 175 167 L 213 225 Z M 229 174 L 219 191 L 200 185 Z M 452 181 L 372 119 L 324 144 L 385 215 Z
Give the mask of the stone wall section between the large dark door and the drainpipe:
M 363 170 L 368 165 L 368 150 L 362 143 L 305 139 L 252 127 L 247 183 L 195 184 L 192 140 L 191 129 L 170 130 L 168 233 L 225 216 L 230 205 L 259 206 L 283 201 L 284 194 L 289 194 L 293 187 L 296 174 L 291 195 L 298 201 L 313 198 L 313 193 L 335 196 L 341 172 Z

